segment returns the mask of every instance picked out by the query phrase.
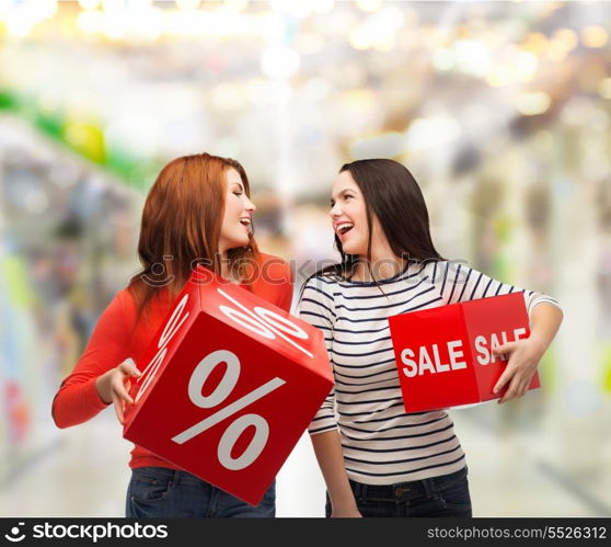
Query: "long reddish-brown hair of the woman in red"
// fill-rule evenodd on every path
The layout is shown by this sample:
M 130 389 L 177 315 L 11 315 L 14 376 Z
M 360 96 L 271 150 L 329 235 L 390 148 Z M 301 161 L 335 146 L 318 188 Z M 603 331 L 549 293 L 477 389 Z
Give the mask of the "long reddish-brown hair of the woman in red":
M 230 158 L 209 153 L 184 156 L 172 160 L 159 173 L 142 210 L 138 241 L 142 270 L 129 281 L 138 315 L 147 309 L 160 287 L 166 288 L 171 298 L 175 297 L 197 263 L 220 274 L 219 237 L 228 169 L 240 173 L 250 197 L 246 172 Z M 249 239 L 249 246 L 228 253 L 230 267 L 242 277 L 241 264 L 258 262 L 252 233 Z

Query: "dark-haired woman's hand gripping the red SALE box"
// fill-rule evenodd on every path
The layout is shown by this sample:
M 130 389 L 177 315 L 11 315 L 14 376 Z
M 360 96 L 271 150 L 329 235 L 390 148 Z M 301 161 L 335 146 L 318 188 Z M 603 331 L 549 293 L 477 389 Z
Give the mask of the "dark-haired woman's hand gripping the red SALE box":
M 493 347 L 495 356 L 509 357 L 505 371 L 493 389 L 494 394 L 498 394 L 504 387 L 507 387 L 507 391 L 498 400 L 499 403 L 522 397 L 528 391 L 544 351 L 545 349 L 542 349 L 541 344 L 531 338 Z

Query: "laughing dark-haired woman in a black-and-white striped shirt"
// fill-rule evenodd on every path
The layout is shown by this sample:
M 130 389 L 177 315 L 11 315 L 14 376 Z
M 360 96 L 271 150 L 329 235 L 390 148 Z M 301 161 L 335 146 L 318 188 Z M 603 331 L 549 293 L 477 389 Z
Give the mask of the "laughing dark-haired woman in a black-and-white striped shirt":
M 335 376 L 310 426 L 326 514 L 471 516 L 452 421 L 443 410 L 404 411 L 388 317 L 522 289 L 440 257 L 420 189 L 395 161 L 344 166 L 330 215 L 342 262 L 310 277 L 300 300 L 300 316 L 324 332 Z M 526 394 L 562 321 L 553 298 L 522 293 L 531 335 L 494 350 L 508 357 L 499 402 Z

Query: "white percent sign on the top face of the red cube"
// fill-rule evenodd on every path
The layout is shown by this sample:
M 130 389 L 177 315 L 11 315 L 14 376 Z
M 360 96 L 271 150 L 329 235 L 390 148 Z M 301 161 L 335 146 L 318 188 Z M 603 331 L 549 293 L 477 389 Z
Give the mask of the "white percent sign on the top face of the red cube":
M 255 306 L 254 312 L 240 304 L 235 298 L 229 296 L 221 288 L 217 289 L 221 296 L 227 298 L 233 305 L 238 306 L 242 311 L 228 306 L 219 306 L 219 309 L 230 319 L 249 329 L 256 334 L 260 334 L 269 340 L 275 340 L 276 335 L 286 340 L 293 347 L 303 352 L 309 357 L 313 358 L 311 352 L 306 347 L 299 345 L 293 339 L 308 340 L 308 333 L 298 324 L 284 318 L 283 316 L 261 306 Z M 288 335 L 287 335 L 288 334 Z

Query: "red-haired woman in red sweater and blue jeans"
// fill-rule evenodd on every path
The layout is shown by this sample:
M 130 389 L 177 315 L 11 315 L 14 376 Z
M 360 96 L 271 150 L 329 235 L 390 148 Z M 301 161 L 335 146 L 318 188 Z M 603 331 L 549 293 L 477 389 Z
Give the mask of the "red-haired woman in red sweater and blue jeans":
M 125 403 L 132 402 L 130 378 L 140 376 L 130 360 L 146 352 L 197 263 L 289 310 L 290 269 L 258 252 L 254 210 L 249 179 L 235 160 L 199 153 L 163 168 L 142 212 L 142 270 L 102 314 L 61 384 L 53 403 L 59 428 L 85 422 L 111 403 L 123 422 Z M 127 516 L 275 516 L 275 485 L 253 508 L 141 446 L 131 451 L 129 466 Z

